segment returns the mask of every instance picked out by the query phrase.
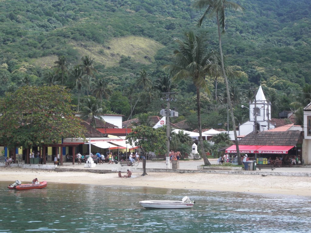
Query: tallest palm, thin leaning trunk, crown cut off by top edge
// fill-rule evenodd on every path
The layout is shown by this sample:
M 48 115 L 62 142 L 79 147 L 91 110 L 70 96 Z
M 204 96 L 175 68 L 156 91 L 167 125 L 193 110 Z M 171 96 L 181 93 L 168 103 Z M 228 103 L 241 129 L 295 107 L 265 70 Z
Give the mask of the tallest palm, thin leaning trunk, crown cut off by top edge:
M 219 42 L 221 69 L 222 69 L 223 77 L 225 79 L 228 104 L 230 108 L 231 120 L 232 120 L 233 131 L 234 131 L 234 140 L 235 140 L 235 145 L 236 145 L 236 150 L 237 150 L 237 155 L 238 155 L 238 162 L 239 164 L 242 164 L 241 157 L 240 157 L 240 151 L 239 151 L 238 137 L 236 134 L 236 126 L 235 126 L 235 121 L 234 121 L 232 103 L 230 100 L 228 79 L 227 79 L 227 75 L 225 71 L 224 57 L 222 54 L 221 33 L 225 33 L 225 9 L 233 9 L 234 11 L 243 11 L 243 8 L 239 4 L 234 3 L 234 2 L 229 2 L 227 0 L 199 0 L 195 2 L 193 6 L 199 9 L 202 9 L 202 8 L 206 9 L 204 14 L 199 19 L 199 22 L 198 22 L 199 26 L 202 25 L 202 21 L 204 20 L 205 16 L 209 16 L 209 17 L 216 16 L 217 27 L 218 27 L 218 42 Z M 220 28 L 222 29 L 222 32 L 220 32 Z

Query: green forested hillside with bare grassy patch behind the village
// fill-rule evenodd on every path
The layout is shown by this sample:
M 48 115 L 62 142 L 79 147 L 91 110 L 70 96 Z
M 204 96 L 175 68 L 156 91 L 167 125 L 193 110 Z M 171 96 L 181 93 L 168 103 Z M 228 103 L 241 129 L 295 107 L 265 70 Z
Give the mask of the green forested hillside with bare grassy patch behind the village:
M 98 93 L 99 80 L 111 91 L 103 97 L 106 112 L 125 115 L 156 115 L 166 105 L 161 94 L 142 85 L 153 84 L 163 73 L 165 56 L 177 48 L 172 38 L 187 30 L 199 30 L 203 12 L 192 0 L 1 0 L 0 1 L 0 95 L 22 85 L 61 84 L 54 66 L 58 57 L 67 60 L 67 88 L 78 98 Z M 307 0 L 239 0 L 244 13 L 226 11 L 222 36 L 226 66 L 240 71 L 230 80 L 235 117 L 247 117 L 240 105 L 252 99 L 251 88 L 262 85 L 272 102 L 272 115 L 302 102 L 302 88 L 311 83 L 311 7 Z M 218 51 L 215 19 L 203 21 L 210 49 Z M 94 59 L 97 72 L 78 88 L 72 77 L 81 57 Z M 146 72 L 144 72 L 146 71 Z M 219 127 L 227 119 L 224 82 L 207 77 L 211 96 L 203 94 L 203 128 Z M 83 83 L 82 83 L 83 84 Z M 179 119 L 196 127 L 195 87 L 191 80 L 178 83 L 171 107 Z M 99 98 L 98 94 L 96 95 Z M 205 98 L 204 98 L 205 97 Z M 300 98 L 301 97 L 301 98 Z M 101 98 L 101 97 L 100 97 Z M 76 100 L 77 103 L 77 100 Z M 135 104 L 136 103 L 136 104 Z M 304 104 L 304 103 L 303 103 Z M 134 108 L 135 106 L 135 108 Z

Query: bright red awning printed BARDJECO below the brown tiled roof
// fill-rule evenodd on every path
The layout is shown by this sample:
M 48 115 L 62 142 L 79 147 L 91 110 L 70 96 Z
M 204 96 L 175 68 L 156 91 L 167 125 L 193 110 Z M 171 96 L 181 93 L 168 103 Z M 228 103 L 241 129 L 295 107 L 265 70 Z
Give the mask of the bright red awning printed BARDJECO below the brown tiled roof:
M 294 146 L 239 145 L 239 150 L 240 153 L 287 154 L 293 147 Z M 236 146 L 230 146 L 225 150 L 225 153 L 236 153 Z

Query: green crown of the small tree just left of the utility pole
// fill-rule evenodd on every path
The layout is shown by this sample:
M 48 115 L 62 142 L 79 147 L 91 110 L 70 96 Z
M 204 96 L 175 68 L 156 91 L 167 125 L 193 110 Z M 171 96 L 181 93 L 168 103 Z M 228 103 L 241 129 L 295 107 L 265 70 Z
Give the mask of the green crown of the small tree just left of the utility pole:
M 137 126 L 126 136 L 127 143 L 142 148 L 143 152 L 166 153 L 166 133 L 163 129 L 149 126 Z

